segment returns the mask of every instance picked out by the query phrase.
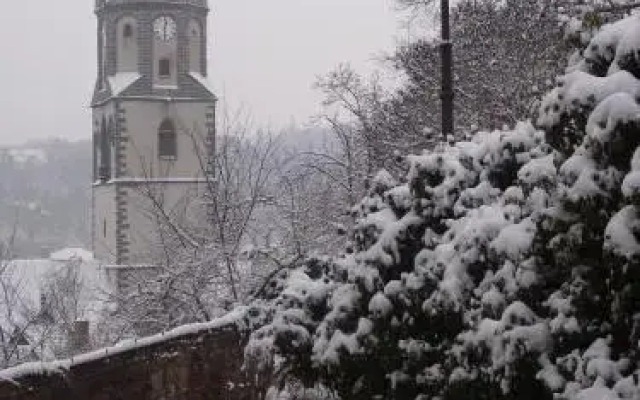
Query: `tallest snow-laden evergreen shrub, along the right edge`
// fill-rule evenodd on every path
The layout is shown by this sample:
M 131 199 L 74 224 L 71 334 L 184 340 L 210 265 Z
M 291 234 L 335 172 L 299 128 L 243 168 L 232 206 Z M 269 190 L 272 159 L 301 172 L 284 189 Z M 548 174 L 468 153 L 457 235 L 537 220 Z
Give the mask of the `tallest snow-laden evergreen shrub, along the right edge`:
M 545 304 L 552 354 L 568 382 L 559 388 L 564 398 L 635 398 L 628 397 L 629 381 L 626 394 L 615 386 L 635 368 L 640 327 L 639 26 L 638 15 L 604 26 L 547 97 L 538 121 L 550 141 L 567 131 L 567 115 L 583 122 L 573 130 L 574 150 L 562 148 L 558 201 L 544 212 L 537 250 L 545 287 L 555 289 Z M 604 343 L 607 350 L 592 359 L 589 349 Z

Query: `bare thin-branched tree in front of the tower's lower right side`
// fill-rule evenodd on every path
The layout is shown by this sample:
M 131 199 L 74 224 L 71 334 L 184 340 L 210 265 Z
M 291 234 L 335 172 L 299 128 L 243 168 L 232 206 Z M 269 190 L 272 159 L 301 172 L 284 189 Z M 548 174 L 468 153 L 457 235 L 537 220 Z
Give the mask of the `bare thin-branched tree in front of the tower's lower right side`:
M 153 168 L 146 163 L 148 183 L 137 194 L 161 257 L 144 274 L 131 271 L 127 287 L 114 294 L 117 306 L 108 316 L 114 339 L 211 320 L 259 284 L 256 263 L 242 253 L 265 234 L 256 220 L 270 208 L 267 187 L 279 168 L 277 139 L 254 131 L 241 112 L 222 115 L 215 149 L 205 133 L 180 121 L 178 130 L 199 163 L 198 197 L 167 201 L 164 187 L 149 179 Z

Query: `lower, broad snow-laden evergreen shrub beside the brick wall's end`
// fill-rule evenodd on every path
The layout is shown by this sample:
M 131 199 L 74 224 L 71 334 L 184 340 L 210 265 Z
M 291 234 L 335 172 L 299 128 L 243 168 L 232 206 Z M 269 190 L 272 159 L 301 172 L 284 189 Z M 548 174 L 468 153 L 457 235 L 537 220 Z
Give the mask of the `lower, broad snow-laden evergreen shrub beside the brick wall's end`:
M 516 263 L 535 234 L 531 214 L 556 179 L 543 136 L 521 123 L 410 156 L 401 179 L 379 173 L 354 208 L 354 253 L 322 262 L 322 273 L 286 278 L 249 359 L 363 399 L 444 394 L 449 377 L 471 376 L 454 366 L 467 357 L 466 341 L 486 332 L 469 327 L 483 313 L 501 319 L 518 285 L 536 279 Z M 526 335 L 513 318 L 505 351 Z

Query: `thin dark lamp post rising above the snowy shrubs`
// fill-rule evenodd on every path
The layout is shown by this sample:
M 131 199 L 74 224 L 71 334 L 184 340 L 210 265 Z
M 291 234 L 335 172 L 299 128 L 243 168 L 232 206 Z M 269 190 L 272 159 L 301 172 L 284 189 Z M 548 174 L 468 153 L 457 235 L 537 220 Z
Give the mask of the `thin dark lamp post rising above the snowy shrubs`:
M 442 100 L 442 135 L 446 141 L 449 135 L 453 135 L 453 44 L 451 43 L 449 22 L 449 0 L 440 0 L 440 16 L 442 20 L 442 42 L 440 43 L 442 92 L 440 98 Z

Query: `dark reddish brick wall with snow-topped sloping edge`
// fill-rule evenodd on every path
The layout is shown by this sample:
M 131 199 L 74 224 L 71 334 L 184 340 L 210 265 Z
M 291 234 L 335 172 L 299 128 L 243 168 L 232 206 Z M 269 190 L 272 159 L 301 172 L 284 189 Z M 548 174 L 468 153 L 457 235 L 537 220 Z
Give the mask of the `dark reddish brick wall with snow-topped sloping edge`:
M 0 400 L 258 400 L 242 371 L 235 325 L 173 337 L 117 354 L 78 358 L 59 373 L 0 382 Z

